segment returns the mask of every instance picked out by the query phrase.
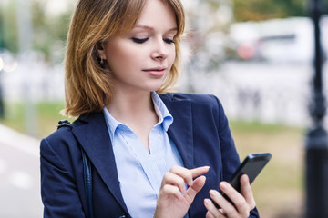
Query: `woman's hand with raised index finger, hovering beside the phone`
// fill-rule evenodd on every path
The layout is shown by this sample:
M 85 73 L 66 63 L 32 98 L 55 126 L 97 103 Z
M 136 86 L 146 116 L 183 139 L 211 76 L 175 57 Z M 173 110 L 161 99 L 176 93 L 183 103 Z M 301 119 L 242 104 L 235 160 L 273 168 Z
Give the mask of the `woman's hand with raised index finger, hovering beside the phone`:
M 207 173 L 209 169 L 208 166 L 191 170 L 173 166 L 163 177 L 154 217 L 183 217 L 188 212 L 196 194 L 205 184 L 206 178 L 202 174 Z M 200 177 L 193 180 L 197 176 Z M 185 183 L 189 185 L 187 190 Z

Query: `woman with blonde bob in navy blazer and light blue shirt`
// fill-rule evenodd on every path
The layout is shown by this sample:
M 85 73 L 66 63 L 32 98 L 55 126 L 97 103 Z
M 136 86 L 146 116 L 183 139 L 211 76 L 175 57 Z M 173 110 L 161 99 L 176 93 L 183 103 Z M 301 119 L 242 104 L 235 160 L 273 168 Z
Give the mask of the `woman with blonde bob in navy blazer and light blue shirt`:
M 45 217 L 89 213 L 81 151 L 95 217 L 258 216 L 247 176 L 241 193 L 221 182 L 240 161 L 219 100 L 168 93 L 184 22 L 179 0 L 77 3 L 64 113 L 78 118 L 41 142 Z

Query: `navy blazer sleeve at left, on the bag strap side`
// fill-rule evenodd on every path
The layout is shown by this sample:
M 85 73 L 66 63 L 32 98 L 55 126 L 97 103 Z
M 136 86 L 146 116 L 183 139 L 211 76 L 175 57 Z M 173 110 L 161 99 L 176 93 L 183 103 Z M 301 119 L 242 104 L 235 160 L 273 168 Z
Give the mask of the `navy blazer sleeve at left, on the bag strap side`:
M 86 217 L 77 191 L 72 171 L 53 146 L 43 139 L 40 145 L 41 196 L 44 217 Z M 55 147 L 55 148 L 56 148 Z M 66 154 L 67 155 L 67 154 Z

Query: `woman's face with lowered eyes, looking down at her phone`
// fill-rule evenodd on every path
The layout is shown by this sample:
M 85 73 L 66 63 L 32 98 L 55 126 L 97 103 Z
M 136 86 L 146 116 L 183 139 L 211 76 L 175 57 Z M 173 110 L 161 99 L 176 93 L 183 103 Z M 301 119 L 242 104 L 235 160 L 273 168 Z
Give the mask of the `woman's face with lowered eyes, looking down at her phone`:
M 127 35 L 111 38 L 98 54 L 106 60 L 116 91 L 156 91 L 175 60 L 173 10 L 160 0 L 148 0 L 137 24 Z

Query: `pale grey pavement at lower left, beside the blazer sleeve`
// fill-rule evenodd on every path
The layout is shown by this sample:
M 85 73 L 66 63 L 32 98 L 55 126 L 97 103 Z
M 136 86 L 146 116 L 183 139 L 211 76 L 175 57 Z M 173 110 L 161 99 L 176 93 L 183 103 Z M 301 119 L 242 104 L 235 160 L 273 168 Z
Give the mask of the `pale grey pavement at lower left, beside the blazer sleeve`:
M 39 142 L 0 125 L 0 217 L 42 217 Z

